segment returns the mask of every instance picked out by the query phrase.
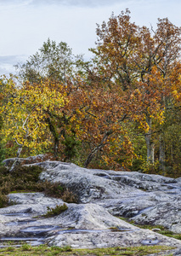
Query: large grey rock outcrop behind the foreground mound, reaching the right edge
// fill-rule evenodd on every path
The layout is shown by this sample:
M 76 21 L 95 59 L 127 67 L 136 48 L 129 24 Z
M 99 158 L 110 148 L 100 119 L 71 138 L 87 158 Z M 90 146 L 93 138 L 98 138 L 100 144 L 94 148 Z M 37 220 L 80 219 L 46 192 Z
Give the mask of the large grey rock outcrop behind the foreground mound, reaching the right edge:
M 79 202 L 94 202 L 137 224 L 163 225 L 181 233 L 181 179 L 140 172 L 89 170 L 74 164 L 42 162 L 40 178 L 65 184 Z M 167 221 L 166 221 L 167 220 Z

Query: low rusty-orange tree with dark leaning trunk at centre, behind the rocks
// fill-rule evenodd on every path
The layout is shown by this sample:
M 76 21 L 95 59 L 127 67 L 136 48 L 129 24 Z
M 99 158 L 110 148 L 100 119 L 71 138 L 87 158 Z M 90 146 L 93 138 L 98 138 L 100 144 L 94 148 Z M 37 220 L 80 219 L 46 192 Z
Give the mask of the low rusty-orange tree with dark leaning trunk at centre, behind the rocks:
M 106 166 L 112 168 L 119 166 L 116 163 L 117 152 L 120 149 L 117 145 L 123 145 L 127 132 L 122 125 L 125 119 L 124 108 L 120 108 L 121 104 L 122 106 L 125 104 L 126 98 L 122 95 L 122 91 L 119 96 L 117 92 L 109 88 L 105 90 L 101 83 L 94 80 L 91 86 L 84 84 L 82 90 L 79 88 L 75 95 L 80 96 L 76 106 L 73 104 L 74 106 L 71 107 L 76 110 L 72 119 L 76 120 L 74 125 L 76 136 L 82 141 L 82 145 L 87 145 L 83 164 L 85 167 L 88 167 L 98 155 L 99 162 L 105 163 Z M 129 146 L 127 149 L 123 147 L 127 156 L 133 154 L 131 143 Z

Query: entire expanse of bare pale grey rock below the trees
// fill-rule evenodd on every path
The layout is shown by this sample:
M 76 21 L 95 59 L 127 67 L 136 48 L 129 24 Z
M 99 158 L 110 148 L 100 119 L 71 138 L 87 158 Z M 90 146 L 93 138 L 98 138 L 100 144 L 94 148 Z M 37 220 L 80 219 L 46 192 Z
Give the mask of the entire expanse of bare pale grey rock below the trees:
M 31 236 L 37 237 L 36 242 L 80 248 L 181 247 L 181 241 L 139 229 L 117 218 L 126 217 L 136 224 L 161 224 L 181 233 L 180 178 L 89 170 L 50 160 L 35 165 L 44 169 L 41 180 L 64 184 L 78 196 L 78 204 L 66 204 L 65 212 L 44 218 L 41 215 L 47 212 L 47 207 L 63 205 L 64 201 L 42 193 L 8 195 L 14 205 L 0 209 L 1 237 Z

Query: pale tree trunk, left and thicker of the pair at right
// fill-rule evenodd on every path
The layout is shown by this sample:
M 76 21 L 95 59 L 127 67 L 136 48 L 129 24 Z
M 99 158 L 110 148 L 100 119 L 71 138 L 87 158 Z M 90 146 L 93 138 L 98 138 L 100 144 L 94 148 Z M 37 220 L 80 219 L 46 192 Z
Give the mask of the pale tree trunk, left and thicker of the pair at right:
M 152 133 L 151 133 L 151 119 L 147 118 L 147 124 L 149 125 L 149 131 L 144 135 L 146 147 L 147 147 L 147 162 L 151 164 L 154 163 L 154 153 L 155 153 L 155 144 L 152 142 Z

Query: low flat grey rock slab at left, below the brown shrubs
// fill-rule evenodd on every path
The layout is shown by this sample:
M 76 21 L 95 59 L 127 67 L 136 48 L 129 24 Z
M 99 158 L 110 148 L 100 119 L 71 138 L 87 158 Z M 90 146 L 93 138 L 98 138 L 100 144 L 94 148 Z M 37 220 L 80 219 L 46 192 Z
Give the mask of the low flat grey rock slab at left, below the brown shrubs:
M 54 208 L 64 203 L 61 199 L 47 197 L 42 193 L 10 194 L 8 198 L 14 205 L 0 208 L 0 236 L 14 236 L 24 226 L 24 221 L 28 225 L 35 221 L 37 223 L 34 217 L 46 214 L 48 207 Z

